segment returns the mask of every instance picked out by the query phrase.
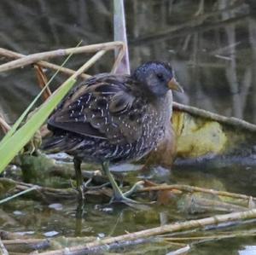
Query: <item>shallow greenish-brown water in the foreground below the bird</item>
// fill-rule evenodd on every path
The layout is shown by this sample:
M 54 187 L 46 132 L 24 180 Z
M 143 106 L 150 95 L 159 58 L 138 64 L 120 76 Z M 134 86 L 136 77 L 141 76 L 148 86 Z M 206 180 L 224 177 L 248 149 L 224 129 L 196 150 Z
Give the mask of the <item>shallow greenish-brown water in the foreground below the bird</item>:
M 119 167 L 119 171 L 122 166 Z M 137 174 L 138 179 L 148 178 L 155 182 L 162 183 L 163 179 L 166 183 L 189 184 L 204 188 L 215 188 L 218 190 L 227 190 L 241 194 L 255 193 L 255 166 L 252 165 L 232 165 L 218 167 L 202 167 L 201 165 L 181 166 L 174 165 L 172 171 L 164 169 L 153 169 L 151 172 L 138 173 L 130 172 L 129 175 Z M 127 173 L 127 171 L 125 171 Z M 128 171 L 129 173 L 129 171 Z M 157 177 L 154 174 L 157 173 Z M 128 179 L 133 179 L 130 177 Z M 174 223 L 177 221 L 202 218 L 212 216 L 216 213 L 214 210 L 199 210 L 191 213 L 186 207 L 183 200 L 174 198 L 167 205 L 155 204 L 146 211 L 135 210 L 126 206 L 108 206 L 107 201 L 103 202 L 105 206 L 95 201 L 94 203 L 86 203 L 82 215 L 78 214 L 78 204 L 75 200 L 70 201 L 54 201 L 47 204 L 28 199 L 16 199 L 2 206 L 2 217 L 0 218 L 1 229 L 15 233 L 21 233 L 31 238 L 57 237 L 65 235 L 67 237 L 74 236 L 96 236 L 99 238 L 111 235 L 123 235 L 125 232 L 134 232 L 143 229 L 154 228 L 165 223 Z M 228 213 L 228 212 L 226 212 Z M 8 214 L 9 219 L 5 219 Z M 201 235 L 223 235 L 234 231 L 255 230 L 256 223 L 248 222 L 243 225 L 230 224 L 224 229 L 218 228 L 211 231 L 204 229 Z M 225 232 L 226 231 L 226 232 Z M 191 232 L 191 235 L 193 232 Z M 190 236 L 190 235 L 189 235 Z M 207 241 L 194 243 L 188 254 L 240 254 L 239 251 L 247 250 L 255 244 L 255 237 L 240 237 L 224 239 L 222 241 Z M 155 246 L 154 243 L 147 245 L 150 250 Z M 247 246 L 247 248 L 246 248 Z M 126 247 L 122 252 L 131 252 L 134 249 L 146 251 L 146 247 L 130 246 Z M 157 254 L 166 254 L 171 252 L 174 247 L 157 250 Z M 113 250 L 112 252 L 118 252 Z M 212 253 L 213 252 L 213 253 Z M 154 252 L 146 252 L 145 254 L 156 254 Z M 254 253 L 252 253 L 254 254 Z

